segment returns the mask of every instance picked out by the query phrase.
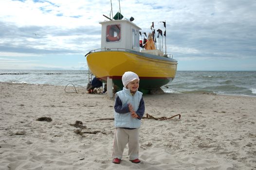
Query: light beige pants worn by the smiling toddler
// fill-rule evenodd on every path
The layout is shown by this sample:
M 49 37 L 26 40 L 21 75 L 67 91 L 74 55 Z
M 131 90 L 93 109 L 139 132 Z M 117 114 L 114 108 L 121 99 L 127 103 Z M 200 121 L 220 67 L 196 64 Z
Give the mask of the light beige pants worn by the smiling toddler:
M 128 143 L 129 160 L 139 158 L 139 129 L 116 128 L 113 146 L 113 158 L 122 159 L 123 152 Z

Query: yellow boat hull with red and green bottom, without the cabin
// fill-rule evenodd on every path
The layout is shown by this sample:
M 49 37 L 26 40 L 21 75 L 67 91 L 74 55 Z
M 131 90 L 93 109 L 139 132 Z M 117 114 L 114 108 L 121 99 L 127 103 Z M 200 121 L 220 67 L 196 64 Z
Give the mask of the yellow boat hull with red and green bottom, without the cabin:
M 138 74 L 140 89 L 157 89 L 175 78 L 177 61 L 131 51 L 97 51 L 87 55 L 91 72 L 103 81 L 110 77 L 114 85 L 123 88 L 122 75 L 126 71 Z

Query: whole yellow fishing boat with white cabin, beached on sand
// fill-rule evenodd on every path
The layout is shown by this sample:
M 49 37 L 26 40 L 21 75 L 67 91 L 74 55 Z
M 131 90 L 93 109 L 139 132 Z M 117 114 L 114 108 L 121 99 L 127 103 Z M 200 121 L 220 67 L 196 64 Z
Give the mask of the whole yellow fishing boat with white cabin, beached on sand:
M 116 85 L 118 89 L 123 88 L 121 78 L 126 71 L 138 74 L 139 90 L 144 93 L 160 88 L 175 78 L 175 59 L 154 48 L 140 51 L 141 28 L 134 24 L 132 19 L 109 19 L 100 22 L 101 49 L 92 50 L 85 55 L 90 71 L 97 78 L 107 82 L 108 91 L 112 89 L 112 85 Z M 150 39 L 148 47 L 149 42 Z

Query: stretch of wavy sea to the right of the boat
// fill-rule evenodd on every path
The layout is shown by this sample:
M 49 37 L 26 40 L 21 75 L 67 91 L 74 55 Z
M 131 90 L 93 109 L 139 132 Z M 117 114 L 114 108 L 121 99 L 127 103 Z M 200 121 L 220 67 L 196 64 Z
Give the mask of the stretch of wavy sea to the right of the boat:
M 169 88 L 166 88 L 169 87 Z M 256 71 L 177 71 L 166 92 L 256 96 Z

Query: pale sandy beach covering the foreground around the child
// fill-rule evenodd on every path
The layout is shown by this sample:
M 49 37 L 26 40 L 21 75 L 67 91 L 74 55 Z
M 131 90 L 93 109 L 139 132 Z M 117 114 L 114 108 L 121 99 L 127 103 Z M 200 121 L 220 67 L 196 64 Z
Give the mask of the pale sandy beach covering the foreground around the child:
M 114 100 L 64 88 L 0 83 L 0 170 L 256 170 L 256 97 L 145 95 L 145 114 L 181 119 L 143 119 L 142 162 L 126 148 L 117 165 Z

